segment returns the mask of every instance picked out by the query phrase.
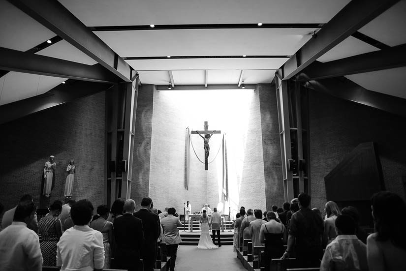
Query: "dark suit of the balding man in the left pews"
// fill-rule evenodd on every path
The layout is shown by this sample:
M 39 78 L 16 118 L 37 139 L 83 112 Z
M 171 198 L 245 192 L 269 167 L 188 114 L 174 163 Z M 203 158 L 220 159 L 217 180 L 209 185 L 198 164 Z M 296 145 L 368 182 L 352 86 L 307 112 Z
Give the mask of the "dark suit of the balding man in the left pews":
M 117 244 L 114 258 L 116 268 L 138 271 L 140 250 L 144 245 L 141 219 L 125 213 L 114 219 L 113 226 Z

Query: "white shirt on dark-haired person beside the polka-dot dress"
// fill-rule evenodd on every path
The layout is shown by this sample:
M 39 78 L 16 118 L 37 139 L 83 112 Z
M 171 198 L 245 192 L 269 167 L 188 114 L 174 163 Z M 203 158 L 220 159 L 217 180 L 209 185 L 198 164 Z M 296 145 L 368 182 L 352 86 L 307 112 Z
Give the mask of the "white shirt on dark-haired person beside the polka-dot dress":
M 103 235 L 88 225 L 67 229 L 57 246 L 61 271 L 93 271 L 104 266 Z

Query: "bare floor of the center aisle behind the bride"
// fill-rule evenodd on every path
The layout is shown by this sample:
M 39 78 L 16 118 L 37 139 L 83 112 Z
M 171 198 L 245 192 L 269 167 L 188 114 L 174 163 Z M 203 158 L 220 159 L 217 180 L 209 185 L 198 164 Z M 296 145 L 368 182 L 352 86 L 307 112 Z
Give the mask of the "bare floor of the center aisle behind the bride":
M 233 252 L 233 246 L 223 245 L 216 249 L 198 249 L 181 245 L 176 258 L 176 271 L 246 271 Z

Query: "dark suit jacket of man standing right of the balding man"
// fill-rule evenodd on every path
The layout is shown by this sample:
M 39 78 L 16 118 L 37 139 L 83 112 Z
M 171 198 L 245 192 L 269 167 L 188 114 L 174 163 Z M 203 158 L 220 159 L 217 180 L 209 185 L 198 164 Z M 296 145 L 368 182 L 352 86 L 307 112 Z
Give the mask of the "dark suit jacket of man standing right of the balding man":
M 147 209 L 141 209 L 140 211 L 134 212 L 134 216 L 142 220 L 145 246 L 155 247 L 160 234 L 159 216 Z

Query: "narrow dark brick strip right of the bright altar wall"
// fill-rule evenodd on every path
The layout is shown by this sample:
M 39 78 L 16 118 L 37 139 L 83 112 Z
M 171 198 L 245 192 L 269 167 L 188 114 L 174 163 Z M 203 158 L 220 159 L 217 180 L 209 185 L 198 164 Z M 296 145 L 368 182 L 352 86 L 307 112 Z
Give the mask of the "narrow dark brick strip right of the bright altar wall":
M 278 105 L 275 85 L 258 85 L 261 106 L 262 147 L 264 157 L 266 209 L 284 202 L 279 136 Z

